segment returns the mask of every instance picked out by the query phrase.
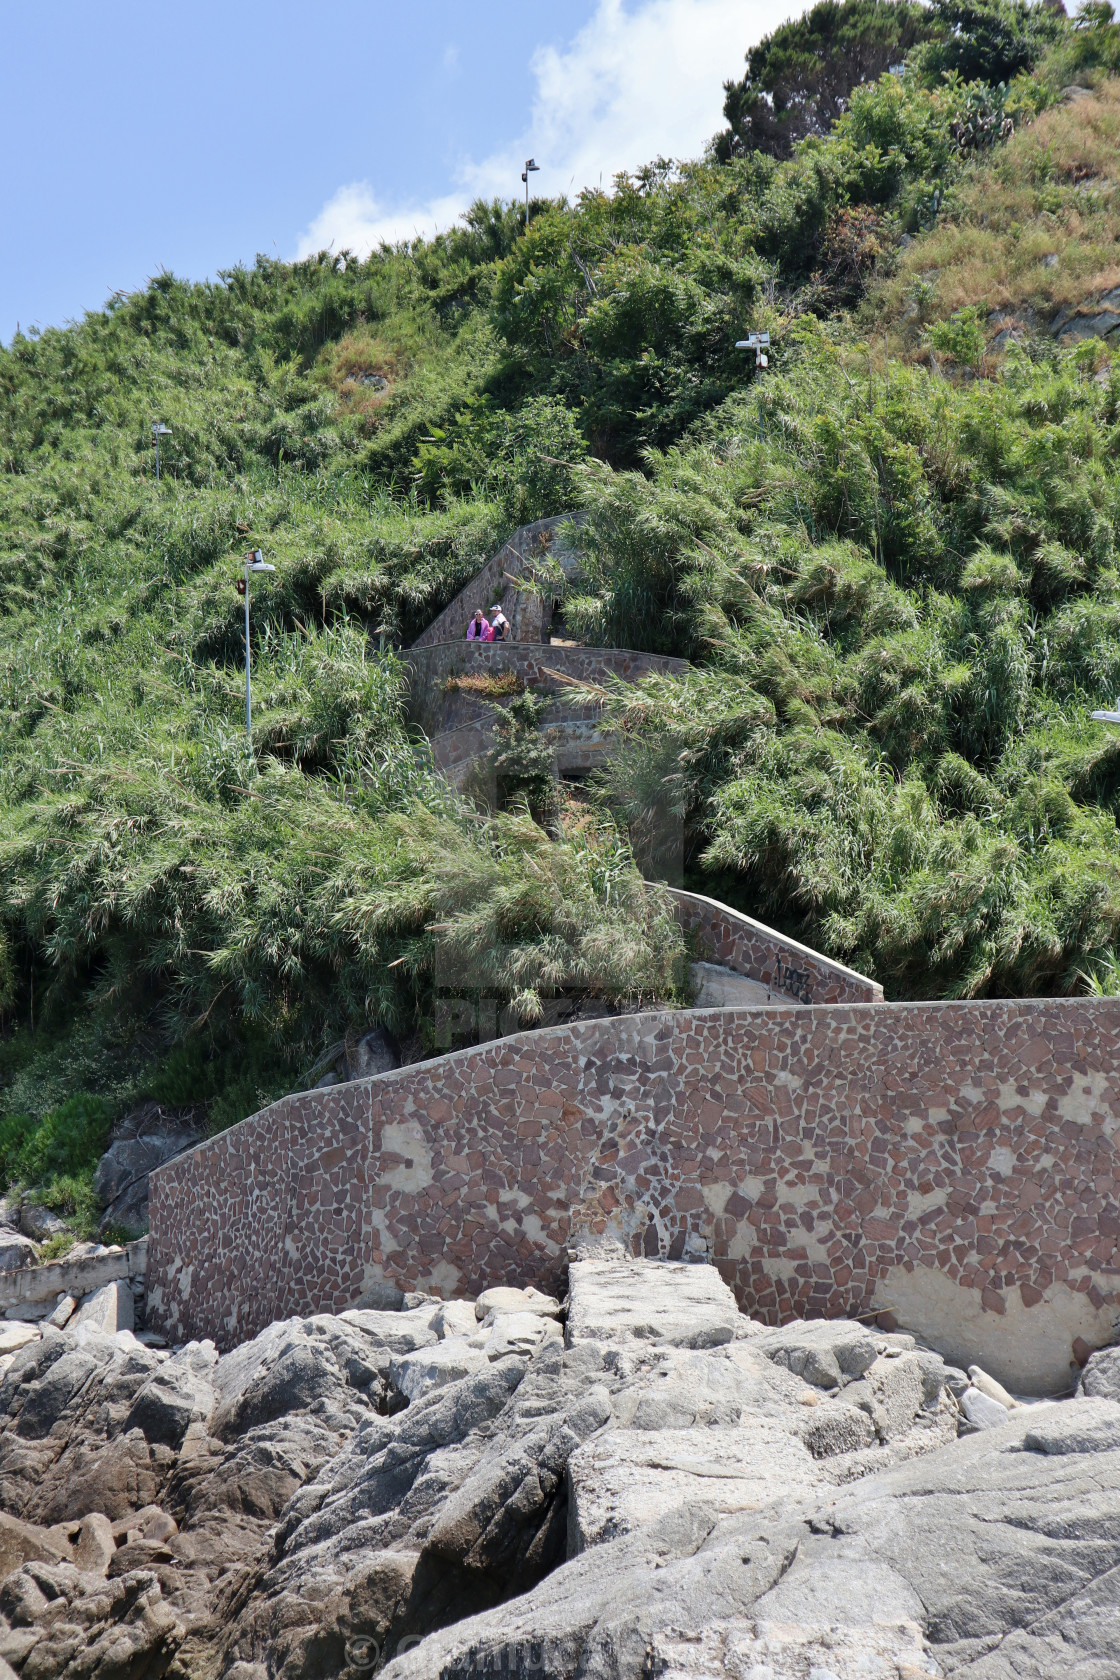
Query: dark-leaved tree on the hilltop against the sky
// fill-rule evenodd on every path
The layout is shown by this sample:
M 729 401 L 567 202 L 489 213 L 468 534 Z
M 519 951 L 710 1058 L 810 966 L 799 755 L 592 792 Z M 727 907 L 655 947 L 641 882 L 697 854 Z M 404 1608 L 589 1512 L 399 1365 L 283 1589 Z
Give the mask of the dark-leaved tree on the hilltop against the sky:
M 828 134 L 851 89 L 875 82 L 930 34 L 915 0 L 819 0 L 747 52 L 746 76 L 725 82 L 727 129 L 715 155 L 788 158 L 798 141 Z

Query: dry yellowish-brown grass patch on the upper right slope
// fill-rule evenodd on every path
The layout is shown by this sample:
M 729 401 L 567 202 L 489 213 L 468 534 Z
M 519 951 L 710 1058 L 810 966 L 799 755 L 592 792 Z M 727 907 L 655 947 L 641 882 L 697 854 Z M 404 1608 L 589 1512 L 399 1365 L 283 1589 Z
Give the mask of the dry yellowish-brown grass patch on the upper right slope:
M 902 252 L 871 299 L 895 349 L 969 306 L 1029 311 L 1046 326 L 1063 306 L 1120 284 L 1120 79 L 1055 106 L 977 163 L 944 220 Z M 1028 318 L 1029 319 L 1029 318 Z M 992 331 L 996 326 L 992 324 Z

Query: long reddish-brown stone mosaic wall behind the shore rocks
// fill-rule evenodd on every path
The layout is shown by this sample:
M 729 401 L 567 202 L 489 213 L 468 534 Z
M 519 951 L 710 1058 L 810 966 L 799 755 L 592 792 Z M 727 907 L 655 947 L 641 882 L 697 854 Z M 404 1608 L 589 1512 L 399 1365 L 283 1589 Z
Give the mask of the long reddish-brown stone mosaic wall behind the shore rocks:
M 964 1326 L 1041 1393 L 1120 1312 L 1118 1131 L 1120 1000 L 522 1033 L 287 1097 L 160 1168 L 149 1322 L 230 1346 L 378 1278 L 552 1290 L 594 1230 L 710 1257 L 769 1322 Z

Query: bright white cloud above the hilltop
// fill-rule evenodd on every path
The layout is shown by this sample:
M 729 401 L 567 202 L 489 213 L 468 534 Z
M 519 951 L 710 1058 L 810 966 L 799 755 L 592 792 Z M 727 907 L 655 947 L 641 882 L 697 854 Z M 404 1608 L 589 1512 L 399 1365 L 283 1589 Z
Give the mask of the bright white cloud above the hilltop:
M 383 205 L 368 181 L 341 186 L 299 239 L 299 255 L 332 245 L 368 252 L 379 240 L 450 227 L 472 198 L 512 198 L 524 160 L 541 165 L 547 195 L 610 186 L 652 158 L 692 158 L 722 126 L 724 81 L 761 35 L 796 12 L 789 0 L 599 0 L 574 40 L 532 59 L 529 126 L 480 163 L 463 160 L 455 190 L 423 205 Z

